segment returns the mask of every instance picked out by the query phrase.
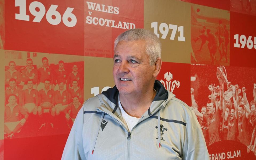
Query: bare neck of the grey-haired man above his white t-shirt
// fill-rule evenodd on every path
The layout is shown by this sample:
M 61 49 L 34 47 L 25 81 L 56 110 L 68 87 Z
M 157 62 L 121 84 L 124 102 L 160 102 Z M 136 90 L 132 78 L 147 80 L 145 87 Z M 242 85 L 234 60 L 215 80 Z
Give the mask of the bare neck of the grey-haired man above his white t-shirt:
M 141 118 L 141 116 L 149 109 L 155 95 L 156 93 L 152 88 L 150 92 L 147 91 L 144 94 L 120 94 L 119 98 L 122 107 L 127 114 L 129 114 L 132 117 Z

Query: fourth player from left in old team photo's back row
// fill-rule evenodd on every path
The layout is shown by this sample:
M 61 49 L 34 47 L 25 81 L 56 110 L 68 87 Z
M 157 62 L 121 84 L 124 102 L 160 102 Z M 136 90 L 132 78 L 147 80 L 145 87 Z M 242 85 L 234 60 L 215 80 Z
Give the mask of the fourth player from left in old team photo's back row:
M 54 79 L 54 91 L 57 91 L 59 89 L 59 85 L 58 85 L 58 81 L 63 80 L 64 83 L 64 89 L 68 90 L 68 88 L 66 87 L 66 83 L 67 83 L 67 72 L 64 69 L 64 62 L 63 61 L 59 61 L 59 68 L 57 71 L 55 71 L 55 79 Z

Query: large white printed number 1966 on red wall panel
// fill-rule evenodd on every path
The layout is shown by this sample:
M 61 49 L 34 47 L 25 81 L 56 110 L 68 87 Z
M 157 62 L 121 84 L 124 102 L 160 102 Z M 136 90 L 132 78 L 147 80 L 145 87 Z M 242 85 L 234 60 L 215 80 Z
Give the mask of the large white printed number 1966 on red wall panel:
M 15 19 L 29 21 L 29 15 L 26 15 L 26 0 L 15 0 L 15 7 L 19 7 L 19 13 L 15 13 Z M 57 8 L 58 5 L 51 5 L 46 12 L 45 6 L 41 2 L 34 1 L 29 5 L 30 13 L 35 16 L 33 22 L 41 22 L 46 12 L 46 20 L 51 25 L 58 25 L 61 19 L 67 27 L 74 27 L 77 24 L 77 17 L 72 13 L 74 8 L 67 7 L 62 17 L 56 10 Z

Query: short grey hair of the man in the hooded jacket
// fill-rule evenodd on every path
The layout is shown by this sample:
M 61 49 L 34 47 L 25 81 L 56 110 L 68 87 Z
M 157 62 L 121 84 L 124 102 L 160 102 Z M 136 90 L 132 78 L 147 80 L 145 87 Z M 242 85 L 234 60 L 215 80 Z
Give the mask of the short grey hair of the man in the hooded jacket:
M 122 34 L 118 35 L 114 42 L 114 52 L 118 42 L 121 41 L 146 41 L 146 54 L 149 55 L 149 64 L 152 66 L 157 61 L 157 58 L 161 58 L 161 42 L 154 33 L 149 30 L 136 28 L 130 29 Z

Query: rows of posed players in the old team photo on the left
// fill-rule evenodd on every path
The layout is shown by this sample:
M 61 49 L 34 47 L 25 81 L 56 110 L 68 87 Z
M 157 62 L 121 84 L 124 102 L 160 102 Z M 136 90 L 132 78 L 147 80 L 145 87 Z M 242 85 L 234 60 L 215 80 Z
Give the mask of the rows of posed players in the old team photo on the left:
M 71 127 L 83 103 L 83 73 L 78 72 L 77 65 L 67 73 L 63 61 L 54 70 L 46 57 L 39 69 L 34 68 L 31 58 L 26 64 L 20 72 L 15 62 L 10 61 L 5 71 L 5 138 L 18 134 L 31 117 L 34 119 L 30 122 L 37 120 L 33 129 L 47 125 L 54 129 L 53 117 L 62 113 Z

